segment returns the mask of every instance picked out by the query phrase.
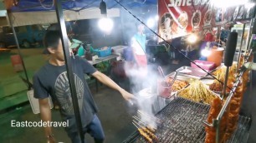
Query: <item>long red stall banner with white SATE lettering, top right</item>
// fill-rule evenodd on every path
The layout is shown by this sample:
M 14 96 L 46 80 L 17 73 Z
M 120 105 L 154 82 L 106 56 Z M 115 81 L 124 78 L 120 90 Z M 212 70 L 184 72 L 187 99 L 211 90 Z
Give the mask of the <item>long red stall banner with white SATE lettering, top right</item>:
M 166 41 L 191 32 L 212 32 L 226 22 L 242 21 L 255 15 L 255 6 L 214 7 L 209 0 L 159 0 L 158 32 Z M 162 39 L 159 42 L 162 42 Z

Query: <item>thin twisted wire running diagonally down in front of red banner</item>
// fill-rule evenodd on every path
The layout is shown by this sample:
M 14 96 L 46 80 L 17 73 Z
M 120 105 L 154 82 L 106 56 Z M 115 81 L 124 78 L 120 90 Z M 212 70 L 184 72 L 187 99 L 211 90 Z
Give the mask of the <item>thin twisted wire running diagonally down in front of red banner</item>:
M 115 2 L 117 2 L 117 0 L 115 0 Z M 131 13 L 127 8 L 125 8 L 120 2 L 117 2 L 120 7 L 123 7 L 125 9 L 126 12 L 129 12 L 133 17 L 135 17 L 139 22 L 141 22 L 145 27 L 147 27 L 151 32 L 153 32 L 154 34 L 156 34 L 157 37 L 161 38 L 161 40 L 163 40 L 163 42 L 166 42 L 170 47 L 172 47 L 173 49 L 175 49 L 177 52 L 179 52 L 180 54 L 182 54 L 183 57 L 187 58 L 187 60 L 189 62 L 192 62 L 193 64 L 195 64 L 197 67 L 199 67 L 200 69 L 202 69 L 203 72 L 206 72 L 209 76 L 212 76 L 212 74 L 210 72 L 207 72 L 205 69 L 203 69 L 202 67 L 198 66 L 196 62 L 193 62 L 189 57 L 187 57 L 183 52 L 181 52 L 180 50 L 177 49 L 177 47 L 174 47 L 171 43 L 167 42 L 164 38 L 162 38 L 160 35 L 158 35 L 156 32 L 154 32 L 150 27 L 148 27 L 144 22 L 141 21 L 141 19 L 139 19 L 138 17 L 136 17 L 133 13 Z M 222 85 L 224 85 L 223 81 L 218 80 L 218 78 L 216 78 L 215 76 L 212 76 L 212 78 L 214 78 L 215 80 L 219 81 Z M 227 86 L 228 89 L 232 90 L 229 86 Z

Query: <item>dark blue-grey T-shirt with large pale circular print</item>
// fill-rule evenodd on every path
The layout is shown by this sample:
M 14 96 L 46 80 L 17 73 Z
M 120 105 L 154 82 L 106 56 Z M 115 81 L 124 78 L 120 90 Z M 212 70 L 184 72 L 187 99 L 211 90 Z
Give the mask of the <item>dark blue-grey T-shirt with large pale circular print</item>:
M 84 74 L 92 74 L 96 72 L 96 69 L 89 62 L 77 56 L 71 58 L 71 64 L 74 72 L 80 116 L 82 125 L 85 127 L 92 121 L 98 109 L 84 78 Z M 54 101 L 57 101 L 63 120 L 69 120 L 69 126 L 66 127 L 66 131 L 77 131 L 65 65 L 54 66 L 49 62 L 46 63 L 33 76 L 33 89 L 35 98 L 44 99 L 51 96 Z

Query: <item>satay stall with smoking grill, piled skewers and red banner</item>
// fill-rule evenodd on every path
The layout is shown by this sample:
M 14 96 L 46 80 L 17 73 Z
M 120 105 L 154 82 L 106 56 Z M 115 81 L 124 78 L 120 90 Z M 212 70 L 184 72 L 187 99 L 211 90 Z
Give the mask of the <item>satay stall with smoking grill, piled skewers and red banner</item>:
M 210 69 L 211 64 L 194 61 L 187 57 L 187 54 L 173 47 L 189 62 L 192 62 L 192 66 L 178 68 L 176 70 L 177 77 L 172 72 L 164 78 L 164 81 L 172 78 L 169 86 L 166 86 L 170 88 L 170 94 L 162 96 L 161 92 L 156 92 L 156 96 L 157 98 L 167 98 L 168 103 L 155 115 L 146 111 L 138 111 L 132 121 L 137 131 L 129 136 L 124 141 L 125 143 L 247 142 L 252 119 L 239 115 L 239 111 L 250 76 L 244 63 L 253 60 L 250 39 L 253 38 L 251 36 L 253 22 L 251 19 L 255 16 L 254 4 L 252 3 L 251 7 L 246 7 L 240 3 L 225 8 L 217 7 L 216 3 L 204 4 L 206 4 L 205 7 L 199 7 L 200 4 L 195 2 L 158 1 L 158 6 L 161 7 L 158 10 L 161 17 L 158 31 L 159 42 L 167 42 L 173 47 L 172 42 L 168 42 L 171 38 L 192 35 L 196 32 L 200 34 L 202 31 L 212 33 L 212 27 L 218 27 L 216 35 L 220 35 L 222 25 L 236 22 L 243 26 L 241 31 L 239 31 L 241 26 L 232 29 L 239 32 L 239 35 L 234 31 L 236 37 L 228 36 L 226 38 L 229 42 L 238 42 L 238 44 L 230 46 L 230 43 L 227 42 L 227 45 L 223 46 L 224 53 L 221 54 L 221 59 L 218 59 L 220 63 L 213 70 Z M 171 16 L 169 17 L 169 15 Z M 164 23 L 169 21 L 162 20 L 163 18 L 171 18 L 171 24 Z M 250 26 L 245 27 L 245 25 Z M 168 28 L 173 29 L 172 32 L 168 31 Z M 220 40 L 220 37 L 215 40 Z M 219 47 L 219 44 L 216 46 Z M 237 49 L 237 57 L 234 62 L 234 53 L 232 59 L 228 59 L 228 57 L 230 58 L 228 52 L 235 52 L 235 49 Z M 230 61 L 231 65 L 226 64 L 226 61 Z M 217 62 L 215 62 L 216 64 Z M 204 67 L 206 65 L 208 68 Z M 172 81 L 174 80 L 187 81 L 188 86 L 182 86 L 173 94 L 172 88 L 175 86 L 172 85 Z M 157 87 L 159 88 L 159 86 Z

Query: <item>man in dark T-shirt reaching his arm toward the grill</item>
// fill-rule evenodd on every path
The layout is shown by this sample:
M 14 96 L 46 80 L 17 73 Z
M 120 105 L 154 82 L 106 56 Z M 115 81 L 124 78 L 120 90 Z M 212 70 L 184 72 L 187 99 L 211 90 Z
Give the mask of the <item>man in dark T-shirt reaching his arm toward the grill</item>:
M 39 101 L 41 119 L 46 122 L 52 120 L 51 109 L 49 107 L 49 96 L 51 96 L 52 99 L 58 102 L 63 120 L 66 122 L 69 121 L 69 126 L 65 128 L 69 138 L 72 143 L 79 143 L 79 134 L 74 116 L 60 32 L 46 32 L 44 46 L 49 52 L 49 62 L 33 76 L 34 97 L 38 98 Z M 106 86 L 119 91 L 127 101 L 134 96 L 118 86 L 108 76 L 98 72 L 85 59 L 77 56 L 70 58 L 84 134 L 89 133 L 90 136 L 94 137 L 96 143 L 102 143 L 105 139 L 104 131 L 96 115 L 98 108 L 95 105 L 90 88 L 84 79 L 84 74 L 90 74 Z M 44 127 L 44 131 L 49 143 L 56 142 L 51 126 Z

